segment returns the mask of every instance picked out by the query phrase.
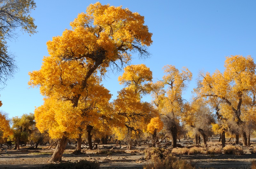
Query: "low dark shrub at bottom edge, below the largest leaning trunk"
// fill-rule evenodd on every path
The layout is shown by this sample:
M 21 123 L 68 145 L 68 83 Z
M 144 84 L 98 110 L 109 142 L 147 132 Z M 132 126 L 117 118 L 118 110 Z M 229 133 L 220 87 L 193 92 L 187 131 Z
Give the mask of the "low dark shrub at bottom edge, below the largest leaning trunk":
M 96 163 L 96 162 L 89 162 L 86 160 L 81 160 L 78 162 L 62 162 L 62 163 L 58 163 L 58 164 L 49 164 L 49 165 L 45 165 L 44 167 L 42 167 L 42 169 L 54 169 L 54 168 L 58 168 L 58 169 L 99 169 L 100 168 L 100 164 Z

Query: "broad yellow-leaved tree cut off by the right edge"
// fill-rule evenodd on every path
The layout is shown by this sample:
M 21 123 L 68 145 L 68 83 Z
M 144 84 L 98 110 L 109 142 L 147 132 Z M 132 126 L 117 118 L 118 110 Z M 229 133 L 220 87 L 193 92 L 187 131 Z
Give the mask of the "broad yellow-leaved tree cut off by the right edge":
M 221 116 L 227 119 L 229 126 L 239 128 L 243 137 L 243 145 L 247 146 L 246 123 L 243 121 L 243 114 L 249 106 L 248 98 L 253 100 L 256 67 L 251 56 L 240 55 L 227 57 L 224 67 L 223 73 L 216 70 L 212 75 L 208 72 L 201 74 L 202 79 L 198 81 L 195 91 L 199 97 L 221 99 L 219 105 Z M 237 144 L 238 140 L 239 132 L 236 132 Z

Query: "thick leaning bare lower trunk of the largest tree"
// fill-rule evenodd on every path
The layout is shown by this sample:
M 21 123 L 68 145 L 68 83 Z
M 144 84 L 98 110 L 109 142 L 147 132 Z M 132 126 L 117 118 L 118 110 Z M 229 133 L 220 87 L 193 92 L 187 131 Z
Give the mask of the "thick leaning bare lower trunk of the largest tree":
M 49 162 L 61 161 L 62 154 L 65 151 L 65 147 L 67 144 L 68 144 L 68 138 L 65 136 L 62 136 L 62 138 L 58 140 L 55 151 L 53 152 Z

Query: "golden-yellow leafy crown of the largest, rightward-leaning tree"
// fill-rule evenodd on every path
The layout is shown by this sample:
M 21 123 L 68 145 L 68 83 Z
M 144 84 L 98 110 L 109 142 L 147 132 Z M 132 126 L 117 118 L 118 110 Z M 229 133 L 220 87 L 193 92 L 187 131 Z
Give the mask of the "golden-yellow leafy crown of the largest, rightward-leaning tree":
M 40 87 L 45 96 L 44 105 L 35 110 L 36 126 L 52 138 L 75 138 L 86 125 L 104 132 L 101 124 L 112 116 L 107 111 L 111 95 L 100 85 L 101 75 L 110 64 L 129 62 L 132 51 L 148 55 L 144 49 L 152 44 L 144 17 L 121 6 L 91 4 L 70 25 L 71 30 L 47 42 L 50 56 L 41 69 L 29 73 L 28 84 Z M 136 103 L 140 96 L 131 95 L 131 106 L 147 107 Z

